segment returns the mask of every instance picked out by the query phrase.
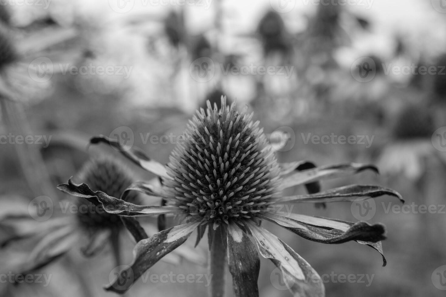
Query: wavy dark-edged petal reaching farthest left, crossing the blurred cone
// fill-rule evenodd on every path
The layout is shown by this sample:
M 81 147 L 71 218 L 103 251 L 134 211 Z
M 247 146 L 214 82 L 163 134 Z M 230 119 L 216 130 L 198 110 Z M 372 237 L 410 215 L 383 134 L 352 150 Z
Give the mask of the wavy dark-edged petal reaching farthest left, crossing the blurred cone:
M 86 183 L 77 185 L 71 179 L 68 183 L 58 185 L 58 189 L 64 193 L 82 197 L 101 207 L 101 210 L 120 216 L 151 216 L 163 213 L 178 214 L 182 210 L 173 206 L 150 206 L 150 205 L 136 205 L 125 202 L 124 200 L 111 197 L 101 191 L 92 191 Z M 99 210 L 98 210 L 99 211 Z

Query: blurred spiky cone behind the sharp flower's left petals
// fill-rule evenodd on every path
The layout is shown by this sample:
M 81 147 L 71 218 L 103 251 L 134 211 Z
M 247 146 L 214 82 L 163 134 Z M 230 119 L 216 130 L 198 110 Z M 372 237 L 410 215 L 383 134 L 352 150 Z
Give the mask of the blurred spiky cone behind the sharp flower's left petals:
M 79 171 L 77 179 L 82 183 L 87 183 L 93 191 L 103 191 L 110 193 L 113 197 L 119 198 L 124 190 L 132 184 L 132 174 L 128 168 L 120 162 L 110 157 L 99 157 L 88 161 Z M 125 200 L 135 203 L 137 195 L 131 191 Z M 79 211 L 78 219 L 86 228 L 116 228 L 121 227 L 119 216 L 108 214 L 107 212 L 94 207 L 92 203 L 83 199 L 78 200 L 80 209 L 91 211 Z

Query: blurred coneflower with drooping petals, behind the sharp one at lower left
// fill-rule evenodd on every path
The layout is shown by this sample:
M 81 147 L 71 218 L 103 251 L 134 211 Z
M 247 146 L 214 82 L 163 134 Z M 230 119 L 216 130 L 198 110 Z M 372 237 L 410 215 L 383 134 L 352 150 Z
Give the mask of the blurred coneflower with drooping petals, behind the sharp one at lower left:
M 76 180 L 88 183 L 92 189 L 107 191 L 117 197 L 124 193 L 124 190 L 132 184 L 134 179 L 128 167 L 105 155 L 99 155 L 85 163 L 76 176 Z M 127 194 L 123 197 L 125 201 L 139 202 L 138 193 L 132 191 Z M 135 218 L 109 214 L 101 207 L 86 200 L 78 200 L 76 204 L 66 200 L 62 200 L 58 204 L 55 202 L 51 204 L 51 201 L 47 200 L 42 201 L 45 202 L 43 206 L 37 203 L 39 209 L 34 208 L 33 205 L 29 207 L 29 202 L 25 201 L 22 214 L 0 216 L 0 228 L 11 230 L 10 235 L 0 241 L 6 258 L 0 259 L 2 268 L 8 267 L 16 273 L 31 273 L 57 260 L 70 251 L 76 243 L 82 245 L 81 251 L 84 256 L 91 257 L 102 251 L 108 242 L 111 245 L 116 265 L 120 265 L 122 264 L 120 263 L 120 247 L 122 245 L 120 235 L 126 228 L 136 242 L 148 238 L 145 229 Z M 1 202 L 8 203 L 8 201 Z M 57 205 L 61 206 L 60 209 L 56 209 Z M 45 207 L 46 210 L 40 209 L 41 207 Z M 50 211 L 50 209 L 51 211 L 54 209 L 52 216 L 42 217 L 42 219 L 46 219 L 43 221 L 36 221 L 34 219 L 36 216 L 31 213 L 37 211 L 45 214 L 44 211 Z M 145 228 L 151 229 L 151 233 L 158 231 L 155 224 L 145 224 Z M 24 242 L 27 242 L 26 245 L 31 248 L 31 251 L 8 260 L 8 255 L 10 255 L 8 252 L 16 252 L 16 245 L 24 245 Z M 188 252 L 190 253 L 189 250 L 186 250 L 182 254 Z M 190 255 L 190 259 L 192 256 L 194 255 Z M 177 252 L 164 260 L 178 264 L 181 258 L 180 253 Z M 199 261 L 198 258 L 194 259 Z

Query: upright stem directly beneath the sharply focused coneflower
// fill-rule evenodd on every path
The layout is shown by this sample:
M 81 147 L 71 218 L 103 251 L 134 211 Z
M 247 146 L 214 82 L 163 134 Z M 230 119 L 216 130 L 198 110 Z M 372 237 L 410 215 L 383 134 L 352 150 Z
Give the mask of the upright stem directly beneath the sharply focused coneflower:
M 226 229 L 219 227 L 215 231 L 209 227 L 211 239 L 209 273 L 211 278 L 211 297 L 223 297 L 226 284 L 227 241 Z

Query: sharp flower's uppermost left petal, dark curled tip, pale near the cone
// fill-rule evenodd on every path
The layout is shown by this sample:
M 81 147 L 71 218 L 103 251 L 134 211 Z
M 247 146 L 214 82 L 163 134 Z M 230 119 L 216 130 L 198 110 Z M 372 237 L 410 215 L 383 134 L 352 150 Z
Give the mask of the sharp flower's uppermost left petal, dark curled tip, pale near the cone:
M 112 147 L 116 148 L 118 151 L 120 151 L 124 156 L 126 156 L 128 159 L 130 159 L 133 163 L 136 163 L 136 165 L 140 166 L 141 168 L 152 172 L 158 176 L 161 177 L 167 177 L 167 171 L 165 169 L 165 166 L 157 161 L 154 161 L 150 159 L 141 149 L 135 147 L 135 146 L 123 146 L 117 141 L 116 139 L 110 139 L 107 136 L 99 135 L 92 137 L 90 139 L 90 143 L 96 144 L 104 142 Z

